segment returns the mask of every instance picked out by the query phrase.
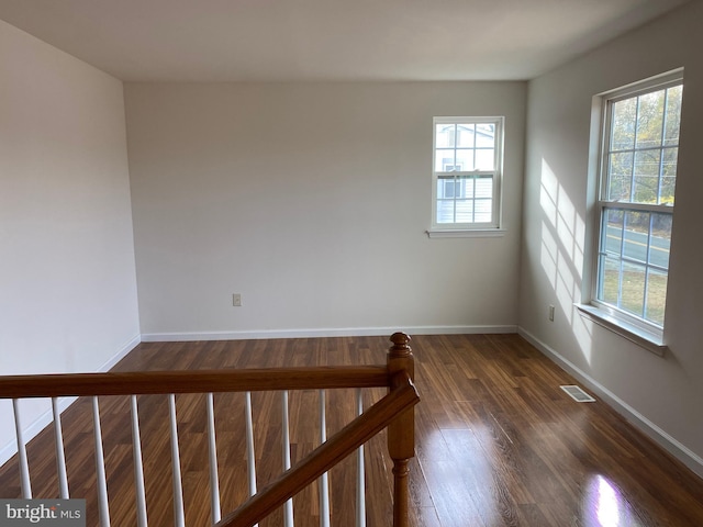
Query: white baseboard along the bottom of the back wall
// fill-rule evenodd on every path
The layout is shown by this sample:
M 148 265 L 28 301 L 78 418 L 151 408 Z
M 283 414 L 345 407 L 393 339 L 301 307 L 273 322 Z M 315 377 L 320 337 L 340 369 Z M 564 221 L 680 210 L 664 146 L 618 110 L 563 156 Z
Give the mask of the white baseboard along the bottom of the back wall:
M 143 343 L 183 343 L 192 340 L 245 340 L 261 338 L 377 337 L 395 332 L 409 335 L 461 335 L 481 333 L 517 333 L 516 325 L 495 326 L 411 326 L 411 327 L 342 327 L 322 329 L 260 329 L 248 332 L 145 333 Z

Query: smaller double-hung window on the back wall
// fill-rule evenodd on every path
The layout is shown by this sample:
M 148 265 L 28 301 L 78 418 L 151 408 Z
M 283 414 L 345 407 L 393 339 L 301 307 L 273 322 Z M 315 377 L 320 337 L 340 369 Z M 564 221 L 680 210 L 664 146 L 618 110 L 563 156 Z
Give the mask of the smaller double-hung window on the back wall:
M 433 228 L 500 227 L 503 117 L 435 117 Z

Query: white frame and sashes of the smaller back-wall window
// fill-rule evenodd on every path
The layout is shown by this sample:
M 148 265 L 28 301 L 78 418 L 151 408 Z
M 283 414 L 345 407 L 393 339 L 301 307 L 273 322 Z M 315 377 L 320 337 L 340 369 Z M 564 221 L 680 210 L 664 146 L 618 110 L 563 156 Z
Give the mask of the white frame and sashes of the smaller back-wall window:
M 503 142 L 504 142 L 503 116 L 437 116 L 433 119 L 432 133 L 432 227 L 427 231 L 429 237 L 464 237 L 464 236 L 501 236 L 502 217 L 502 179 L 503 179 Z M 493 170 L 466 170 L 466 171 L 438 171 L 437 166 L 437 125 L 440 124 L 493 124 L 495 126 L 494 148 L 493 148 Z M 454 176 L 457 178 L 478 179 L 482 177 L 492 178 L 491 195 L 491 220 L 489 222 L 437 222 L 437 187 L 443 178 Z

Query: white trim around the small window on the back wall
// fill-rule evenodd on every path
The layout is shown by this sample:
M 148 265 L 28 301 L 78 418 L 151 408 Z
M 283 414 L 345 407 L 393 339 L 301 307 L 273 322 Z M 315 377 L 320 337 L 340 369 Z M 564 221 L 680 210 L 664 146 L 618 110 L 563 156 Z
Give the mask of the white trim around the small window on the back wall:
M 436 125 L 461 123 L 492 123 L 495 124 L 495 161 L 493 177 L 493 217 L 490 223 L 437 223 L 437 172 L 435 171 Z M 432 224 L 426 231 L 431 238 L 469 238 L 469 237 L 500 237 L 504 236 L 502 227 L 503 204 L 503 157 L 505 142 L 504 116 L 440 116 L 433 119 L 432 132 Z M 456 172 L 458 176 L 476 176 L 483 173 L 479 170 Z

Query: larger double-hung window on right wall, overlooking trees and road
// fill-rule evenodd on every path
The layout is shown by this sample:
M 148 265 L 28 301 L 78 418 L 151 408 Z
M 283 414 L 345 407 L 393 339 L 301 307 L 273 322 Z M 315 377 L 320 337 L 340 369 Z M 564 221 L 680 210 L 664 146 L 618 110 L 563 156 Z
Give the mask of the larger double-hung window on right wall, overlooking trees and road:
M 662 336 L 677 181 L 681 74 L 604 99 L 596 307 Z

